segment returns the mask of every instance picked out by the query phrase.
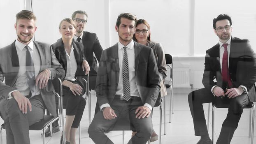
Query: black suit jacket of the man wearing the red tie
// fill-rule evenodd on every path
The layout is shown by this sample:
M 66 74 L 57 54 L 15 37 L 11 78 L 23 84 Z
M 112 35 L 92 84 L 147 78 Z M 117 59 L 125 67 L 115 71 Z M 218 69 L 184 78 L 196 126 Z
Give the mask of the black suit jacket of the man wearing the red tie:
M 247 39 L 231 38 L 229 54 L 229 74 L 233 87 L 246 86 L 251 102 L 256 101 L 256 56 Z M 216 79 L 216 81 L 214 80 Z M 217 85 L 224 90 L 227 84 L 222 81 L 219 56 L 219 43 L 206 51 L 205 70 L 202 83 L 211 90 Z

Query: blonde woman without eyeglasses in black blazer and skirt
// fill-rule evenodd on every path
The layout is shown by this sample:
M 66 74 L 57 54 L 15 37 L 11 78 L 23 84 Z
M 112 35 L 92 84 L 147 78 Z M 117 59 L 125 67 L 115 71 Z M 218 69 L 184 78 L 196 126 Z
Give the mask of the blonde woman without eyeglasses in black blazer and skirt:
M 65 78 L 62 82 L 63 105 L 66 108 L 65 144 L 76 144 L 75 133 L 86 105 L 86 101 L 82 97 L 85 93 L 82 80 L 85 75 L 85 71 L 82 69 L 84 46 L 80 42 L 73 41 L 75 28 L 76 24 L 72 19 L 63 19 L 59 25 L 62 38 L 51 45 L 56 58 L 65 70 Z M 61 136 L 60 144 L 63 144 L 63 136 Z

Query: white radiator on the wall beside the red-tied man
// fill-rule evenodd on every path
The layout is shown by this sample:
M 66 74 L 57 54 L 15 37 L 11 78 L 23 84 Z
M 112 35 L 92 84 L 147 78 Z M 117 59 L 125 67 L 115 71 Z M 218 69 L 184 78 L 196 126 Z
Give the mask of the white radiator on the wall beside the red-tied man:
M 173 68 L 173 87 L 190 88 L 190 68 Z

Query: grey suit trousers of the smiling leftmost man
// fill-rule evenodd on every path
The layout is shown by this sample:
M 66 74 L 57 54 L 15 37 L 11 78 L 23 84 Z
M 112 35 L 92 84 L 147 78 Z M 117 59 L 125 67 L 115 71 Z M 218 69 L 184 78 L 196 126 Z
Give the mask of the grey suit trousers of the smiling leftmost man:
M 45 105 L 41 95 L 30 98 L 32 111 L 23 114 L 14 98 L 0 101 L 0 113 L 5 121 L 7 144 L 30 144 L 29 126 L 44 118 Z

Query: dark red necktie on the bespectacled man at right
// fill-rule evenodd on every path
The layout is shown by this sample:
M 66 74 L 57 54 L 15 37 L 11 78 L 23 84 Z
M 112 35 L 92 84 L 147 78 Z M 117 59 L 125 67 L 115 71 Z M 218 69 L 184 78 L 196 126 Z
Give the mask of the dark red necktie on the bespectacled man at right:
M 221 70 L 221 76 L 222 81 L 227 82 L 229 88 L 232 86 L 232 81 L 230 79 L 229 70 L 228 70 L 228 44 L 223 44 L 224 47 L 224 53 L 222 57 L 222 70 Z

